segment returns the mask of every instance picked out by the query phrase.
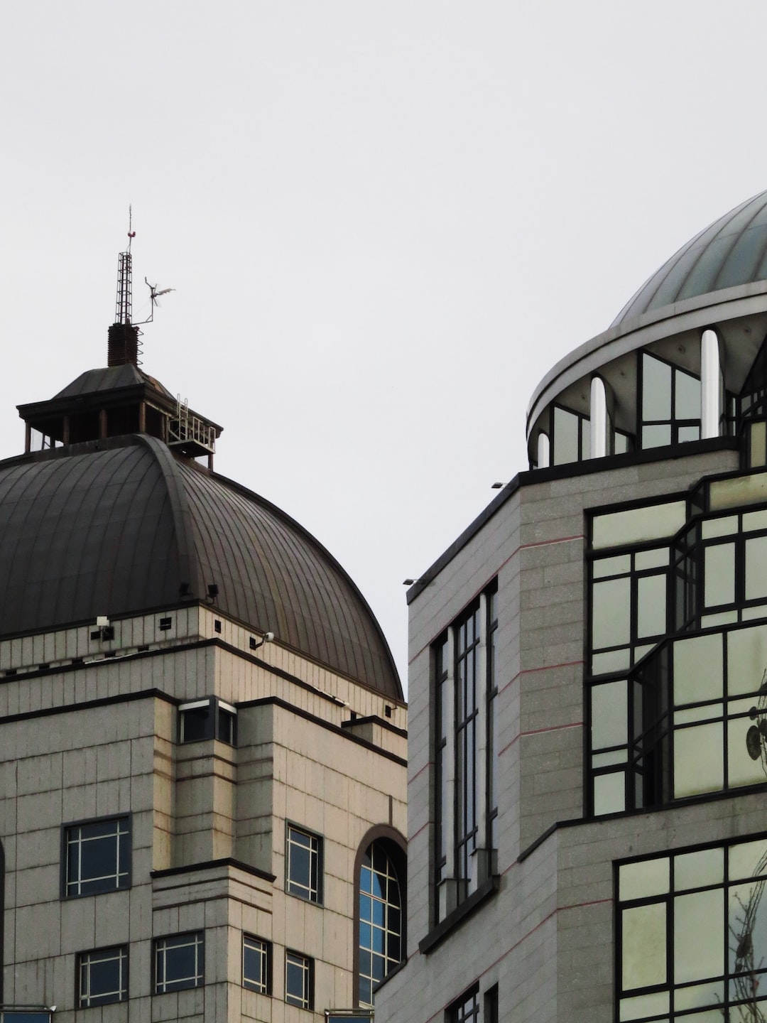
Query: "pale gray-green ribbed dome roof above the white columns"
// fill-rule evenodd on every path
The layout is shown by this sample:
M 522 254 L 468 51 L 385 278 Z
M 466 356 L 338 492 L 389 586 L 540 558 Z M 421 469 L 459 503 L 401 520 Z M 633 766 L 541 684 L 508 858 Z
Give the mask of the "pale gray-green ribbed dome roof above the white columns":
M 682 246 L 624 306 L 613 326 L 738 284 L 767 280 L 767 191 Z

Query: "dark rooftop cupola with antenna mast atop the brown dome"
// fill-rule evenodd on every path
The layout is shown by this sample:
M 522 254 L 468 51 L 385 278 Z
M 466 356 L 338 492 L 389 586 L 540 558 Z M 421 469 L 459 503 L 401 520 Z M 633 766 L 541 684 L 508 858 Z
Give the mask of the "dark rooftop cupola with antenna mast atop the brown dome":
M 116 314 L 108 330 L 106 367 L 81 373 L 48 401 L 17 406 L 27 425 L 25 450 L 29 453 L 33 447 L 148 434 L 184 457 L 207 456 L 208 466 L 213 469 L 216 439 L 223 428 L 192 411 L 186 401 L 174 397 L 139 366 L 141 331 L 132 321 L 134 236 L 135 231 L 129 228 L 128 248 L 118 258 Z M 171 291 L 148 286 L 151 312 L 142 323 L 151 322 L 157 296 Z

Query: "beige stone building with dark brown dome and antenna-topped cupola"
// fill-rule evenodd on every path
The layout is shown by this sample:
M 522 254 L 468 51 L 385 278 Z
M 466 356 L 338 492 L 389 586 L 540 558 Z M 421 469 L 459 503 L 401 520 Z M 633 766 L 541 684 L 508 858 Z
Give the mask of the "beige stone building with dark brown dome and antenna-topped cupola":
M 0 461 L 2 1019 L 369 1019 L 405 954 L 406 707 L 332 555 L 138 361 Z

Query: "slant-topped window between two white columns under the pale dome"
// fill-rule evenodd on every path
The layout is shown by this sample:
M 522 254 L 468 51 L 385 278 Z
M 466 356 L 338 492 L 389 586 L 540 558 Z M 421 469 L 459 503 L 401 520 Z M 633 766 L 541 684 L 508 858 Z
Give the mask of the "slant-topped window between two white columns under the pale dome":
M 701 438 L 701 381 L 643 352 L 641 446 L 662 447 Z

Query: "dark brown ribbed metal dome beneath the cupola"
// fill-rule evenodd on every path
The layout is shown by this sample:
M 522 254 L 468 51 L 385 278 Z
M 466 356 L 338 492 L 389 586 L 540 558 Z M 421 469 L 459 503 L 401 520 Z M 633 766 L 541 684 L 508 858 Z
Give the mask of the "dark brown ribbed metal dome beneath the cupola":
M 202 599 L 402 699 L 380 628 L 283 511 L 133 435 L 0 462 L 0 636 Z

